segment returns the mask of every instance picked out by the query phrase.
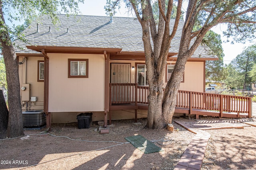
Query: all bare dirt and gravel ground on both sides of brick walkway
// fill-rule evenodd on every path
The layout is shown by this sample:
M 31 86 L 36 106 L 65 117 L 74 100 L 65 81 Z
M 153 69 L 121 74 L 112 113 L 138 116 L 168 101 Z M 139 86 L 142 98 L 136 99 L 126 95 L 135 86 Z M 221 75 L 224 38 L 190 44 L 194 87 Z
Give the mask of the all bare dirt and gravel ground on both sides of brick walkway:
M 188 117 L 174 118 L 184 119 Z M 212 117 L 200 119 L 214 120 Z M 134 120 L 113 120 L 110 133 L 103 135 L 95 131 L 99 127 L 96 123 L 89 129 L 78 129 L 77 123 L 52 125 L 50 133 L 53 135 L 86 141 L 38 135 L 43 130 L 26 130 L 24 133 L 25 137 L 29 135 L 28 139 L 0 140 L 0 169 L 173 170 L 195 134 L 176 123 L 173 123 L 176 131 L 171 133 L 166 129 L 143 129 L 146 119 L 138 119 L 138 122 L 141 125 L 133 124 Z M 201 169 L 256 169 L 255 131 L 256 127 L 207 130 L 212 136 Z M 169 145 L 156 143 L 164 151 L 144 154 L 124 139 L 136 134 L 148 140 L 161 140 L 164 137 L 171 140 Z

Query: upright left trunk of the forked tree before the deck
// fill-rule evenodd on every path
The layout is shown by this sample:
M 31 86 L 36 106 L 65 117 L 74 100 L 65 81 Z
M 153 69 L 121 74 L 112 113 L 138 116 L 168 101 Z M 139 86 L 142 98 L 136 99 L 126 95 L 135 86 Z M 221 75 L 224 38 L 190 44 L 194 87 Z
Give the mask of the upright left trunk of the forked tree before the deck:
M 143 1 L 145 3 L 145 1 Z M 165 9 L 165 1 L 158 1 L 159 7 Z M 163 115 L 162 102 L 163 102 L 163 78 L 166 67 L 167 55 L 170 49 L 170 42 L 175 35 L 179 23 L 180 12 L 177 13 L 178 19 L 173 26 L 172 34 L 170 35 L 170 16 L 172 12 L 172 2 L 168 3 L 168 10 L 166 16 L 164 11 L 159 14 L 158 28 L 154 22 L 152 15 L 152 7 L 150 0 L 146 1 L 145 8 L 142 8 L 142 18 L 139 15 L 137 18 L 142 25 L 142 40 L 144 43 L 147 79 L 149 84 L 148 96 L 148 121 L 147 128 L 162 129 L 166 126 L 166 117 Z M 181 9 L 181 1 L 179 2 L 179 11 Z M 153 47 L 150 41 L 152 37 Z

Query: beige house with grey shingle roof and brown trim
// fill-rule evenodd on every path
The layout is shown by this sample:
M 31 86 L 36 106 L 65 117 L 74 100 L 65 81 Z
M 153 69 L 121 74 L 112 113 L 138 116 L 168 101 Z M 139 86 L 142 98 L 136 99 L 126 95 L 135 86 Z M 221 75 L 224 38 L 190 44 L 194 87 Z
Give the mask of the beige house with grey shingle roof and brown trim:
M 83 112 L 92 112 L 92 121 L 104 120 L 105 126 L 108 119 L 147 117 L 140 23 L 135 18 L 58 17 L 60 23 L 53 25 L 43 16 L 24 30 L 26 43 L 14 41 L 23 48 L 16 48 L 22 109 L 44 109 L 48 127 L 76 122 Z M 164 86 L 177 59 L 183 25 L 180 20 L 171 43 Z M 204 92 L 205 61 L 217 59 L 208 47 L 199 46 L 186 63 L 180 90 Z

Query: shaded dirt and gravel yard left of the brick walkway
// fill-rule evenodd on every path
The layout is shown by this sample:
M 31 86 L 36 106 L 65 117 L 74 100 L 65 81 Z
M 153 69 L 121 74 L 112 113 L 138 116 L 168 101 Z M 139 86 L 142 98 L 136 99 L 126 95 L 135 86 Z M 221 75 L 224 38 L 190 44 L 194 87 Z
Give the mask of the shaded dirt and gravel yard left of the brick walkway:
M 156 144 L 164 151 L 144 154 L 130 143 L 118 145 L 108 142 L 71 141 L 50 135 L 30 135 L 23 140 L 0 140 L 0 169 L 173 170 L 195 134 L 176 123 L 174 128 L 179 130 L 171 133 L 166 129 L 143 129 L 146 119 L 139 119 L 138 122 L 142 124 L 134 125 L 134 120 L 113 120 L 114 127 L 110 127 L 110 133 L 104 135 L 94 131 L 98 125 L 92 125 L 89 129 L 77 129 L 77 123 L 54 124 L 51 133 L 71 139 L 121 143 L 127 142 L 124 137 L 136 134 L 148 140 L 160 140 L 166 136 L 171 139 L 169 145 Z M 27 130 L 24 133 L 38 134 L 40 131 Z M 113 145 L 118 146 L 111 147 Z M 27 166 L 31 167 L 26 168 Z

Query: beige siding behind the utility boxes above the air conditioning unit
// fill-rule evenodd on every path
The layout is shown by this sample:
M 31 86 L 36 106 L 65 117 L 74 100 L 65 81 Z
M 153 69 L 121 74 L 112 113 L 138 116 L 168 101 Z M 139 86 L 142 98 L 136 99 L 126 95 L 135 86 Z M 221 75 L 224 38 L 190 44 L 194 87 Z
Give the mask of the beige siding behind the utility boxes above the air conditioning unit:
M 27 109 L 43 109 L 44 103 L 44 82 L 37 81 L 38 61 L 43 61 L 44 57 L 26 57 L 27 62 L 19 64 L 20 87 L 22 84 L 30 84 L 30 96 L 37 98 L 36 102 L 31 102 Z M 22 62 L 24 57 L 19 57 L 19 62 Z M 26 75 L 25 75 L 26 69 Z M 26 80 L 25 80 L 26 79 Z M 25 82 L 26 81 L 26 82 Z M 22 95 L 22 90 L 20 91 Z M 26 109 L 26 105 L 22 104 L 22 109 Z

